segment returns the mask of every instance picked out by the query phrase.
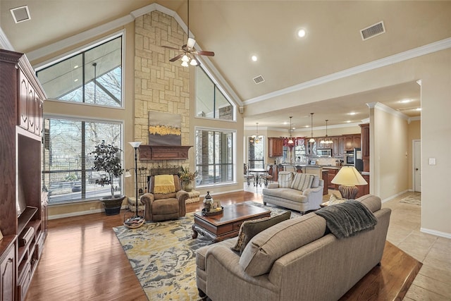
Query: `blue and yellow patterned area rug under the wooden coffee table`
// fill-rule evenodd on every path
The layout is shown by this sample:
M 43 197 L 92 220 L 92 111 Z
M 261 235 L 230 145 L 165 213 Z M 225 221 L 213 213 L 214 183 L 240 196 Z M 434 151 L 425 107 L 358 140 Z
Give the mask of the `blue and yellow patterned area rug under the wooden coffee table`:
M 265 207 L 257 202 L 247 202 Z M 266 206 L 271 216 L 287 209 Z M 301 216 L 292 211 L 291 217 Z M 145 223 L 141 228 L 113 228 L 149 300 L 199 300 L 196 250 L 211 244 L 202 235 L 192 239 L 194 213 L 175 221 Z

